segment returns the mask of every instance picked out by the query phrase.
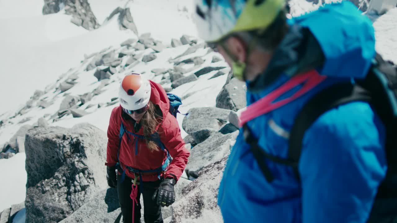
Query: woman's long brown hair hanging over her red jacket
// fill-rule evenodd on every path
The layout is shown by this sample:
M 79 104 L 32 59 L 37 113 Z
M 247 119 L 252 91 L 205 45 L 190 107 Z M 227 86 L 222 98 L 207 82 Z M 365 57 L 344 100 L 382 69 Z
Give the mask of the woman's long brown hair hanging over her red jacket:
M 157 125 L 162 121 L 162 111 L 158 105 L 153 104 L 149 101 L 149 108 L 141 119 L 141 126 L 143 128 L 143 135 L 146 138 L 146 146 L 150 152 L 158 151 L 158 145 L 153 140 L 152 134 L 156 131 Z

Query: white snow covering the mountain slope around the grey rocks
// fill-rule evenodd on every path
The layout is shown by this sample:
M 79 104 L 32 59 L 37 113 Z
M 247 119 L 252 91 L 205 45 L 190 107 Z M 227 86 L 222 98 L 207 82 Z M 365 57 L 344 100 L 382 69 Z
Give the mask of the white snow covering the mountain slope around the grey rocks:
M 332 0 L 326 0 L 326 2 Z M 171 38 L 179 38 L 183 34 L 196 36 L 195 25 L 191 21 L 192 0 L 89 0 L 94 15 L 102 24 L 105 18 L 118 6 L 129 7 L 137 25 L 139 34 L 150 32 L 156 40 L 161 40 L 169 45 Z M 306 2 L 305 0 L 290 1 L 293 16 L 300 15 L 308 10 L 315 10 L 320 5 Z M 41 109 L 33 106 L 28 113 L 9 119 L 13 124 L 7 123 L 0 128 L 0 146 L 10 140 L 12 135 L 22 125 L 35 125 L 39 117 L 52 120 L 50 116 L 59 110 L 60 104 L 66 94 L 77 96 L 86 92 L 92 92 L 100 83 L 93 76 L 94 70 L 84 71 L 87 62 L 84 54 L 99 52 L 102 49 L 119 48 L 121 42 L 128 38 L 137 38 L 132 31 L 120 31 L 117 24 L 117 16 L 103 27 L 93 31 L 87 31 L 70 23 L 71 17 L 59 12 L 52 15 L 41 15 L 42 0 L 0 0 L 0 95 L 2 106 L 0 107 L 0 120 L 6 119 L 22 108 L 34 90 L 49 90 L 41 98 L 53 101 L 52 106 Z M 376 30 L 376 49 L 386 59 L 397 63 L 397 9 L 390 10 L 385 15 L 373 18 Z M 200 43 L 200 41 L 199 41 Z M 109 48 L 110 47 L 110 48 Z M 154 77 L 150 72 L 155 68 L 172 68 L 168 59 L 175 58 L 187 50 L 189 46 L 167 48 L 156 54 L 157 59 L 149 63 L 139 63 L 126 67 L 121 73 L 116 73 L 110 78 L 110 84 L 103 88 L 105 92 L 85 104 L 94 105 L 87 109 L 90 114 L 81 118 L 73 118 L 71 115 L 62 117 L 59 121 L 49 123 L 53 126 L 72 127 L 77 123 L 88 122 L 107 131 L 110 112 L 118 104 L 113 106 L 97 107 L 99 103 L 110 102 L 118 96 L 119 81 L 125 74 L 132 71 L 143 73 L 155 81 L 161 77 Z M 151 49 L 143 50 L 143 55 L 152 52 Z M 208 49 L 199 49 L 193 54 L 183 58 L 194 56 L 202 57 L 205 62 L 202 66 L 227 66 L 224 61 L 211 63 L 215 52 L 207 53 Z M 178 59 L 178 60 L 179 60 Z M 189 69 L 191 65 L 184 68 Z M 71 68 L 71 69 L 70 69 Z M 199 68 L 198 68 L 199 69 Z M 185 75 L 190 75 L 198 69 L 191 70 Z M 230 68 L 223 71 L 228 73 Z M 172 90 L 183 99 L 183 105 L 179 108 L 181 113 L 186 113 L 190 108 L 215 106 L 216 96 L 225 83 L 227 75 L 210 79 L 217 71 L 213 71 L 198 78 L 198 81 L 181 85 Z M 64 81 L 70 74 L 77 73 L 78 83 L 64 93 L 55 92 L 54 87 Z M 59 81 L 57 82 L 57 80 Z M 5 113 L 6 114 L 3 114 Z M 19 121 L 31 117 L 30 121 L 17 124 Z M 178 114 L 177 120 L 181 126 L 183 115 Z M 187 133 L 181 128 L 182 136 Z M 10 159 L 0 160 L 0 211 L 25 200 L 25 184 L 27 174 L 25 171 L 25 153 L 19 153 Z M 4 179 L 6 179 L 4 181 Z M 10 183 L 3 183 L 10 182 Z M 210 216 L 208 216 L 210 217 Z M 208 222 L 211 222 L 208 220 Z

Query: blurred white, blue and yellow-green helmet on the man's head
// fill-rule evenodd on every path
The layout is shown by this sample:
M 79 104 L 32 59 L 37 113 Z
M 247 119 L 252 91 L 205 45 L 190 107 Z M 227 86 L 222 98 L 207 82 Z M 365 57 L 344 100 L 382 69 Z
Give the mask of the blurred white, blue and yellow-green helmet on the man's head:
M 193 19 L 200 38 L 217 42 L 231 33 L 266 29 L 284 5 L 285 0 L 195 0 Z

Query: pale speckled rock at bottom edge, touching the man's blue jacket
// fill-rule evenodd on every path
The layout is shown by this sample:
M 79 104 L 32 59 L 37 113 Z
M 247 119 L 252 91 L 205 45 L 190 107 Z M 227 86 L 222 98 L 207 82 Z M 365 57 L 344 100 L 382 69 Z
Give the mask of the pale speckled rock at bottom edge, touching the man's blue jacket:
M 200 176 L 185 186 L 182 198 L 172 204 L 172 222 L 220 223 L 222 214 L 217 205 L 218 188 L 227 158 L 222 158 L 200 171 Z M 211 221 L 208 221 L 208 215 Z

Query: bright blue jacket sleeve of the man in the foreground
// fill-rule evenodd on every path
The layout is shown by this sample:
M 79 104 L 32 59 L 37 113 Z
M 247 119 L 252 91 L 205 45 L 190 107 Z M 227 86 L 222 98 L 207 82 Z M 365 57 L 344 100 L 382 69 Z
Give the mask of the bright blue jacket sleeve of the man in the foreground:
M 387 170 L 384 142 L 384 125 L 364 102 L 320 116 L 299 164 L 303 222 L 366 222 Z

